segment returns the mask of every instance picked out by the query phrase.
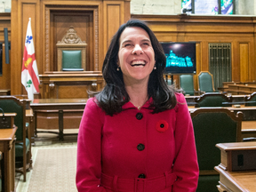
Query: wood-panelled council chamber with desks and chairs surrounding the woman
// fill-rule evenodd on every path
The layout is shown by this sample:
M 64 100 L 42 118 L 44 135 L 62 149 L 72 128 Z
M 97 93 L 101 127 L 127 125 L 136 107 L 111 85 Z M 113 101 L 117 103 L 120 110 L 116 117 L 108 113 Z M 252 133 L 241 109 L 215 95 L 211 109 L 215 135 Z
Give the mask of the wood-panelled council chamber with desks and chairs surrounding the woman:
M 0 12 L 1 192 L 77 191 L 84 107 L 106 85 L 108 46 L 130 19 L 154 32 L 166 56 L 164 81 L 187 100 L 200 170 L 196 191 L 256 191 L 256 12 L 249 1 L 216 1 L 214 14 L 201 13 L 209 4 L 195 0 L 10 2 L 12 10 Z M 21 84 L 28 20 L 39 79 L 33 100 Z

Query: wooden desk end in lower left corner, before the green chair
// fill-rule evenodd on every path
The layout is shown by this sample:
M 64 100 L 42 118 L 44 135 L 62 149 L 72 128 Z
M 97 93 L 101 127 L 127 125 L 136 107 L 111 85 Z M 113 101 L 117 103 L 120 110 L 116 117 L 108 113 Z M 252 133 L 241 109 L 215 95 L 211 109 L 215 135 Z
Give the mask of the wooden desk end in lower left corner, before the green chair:
M 15 190 L 15 132 L 12 129 L 0 129 L 0 151 L 4 155 L 4 191 Z

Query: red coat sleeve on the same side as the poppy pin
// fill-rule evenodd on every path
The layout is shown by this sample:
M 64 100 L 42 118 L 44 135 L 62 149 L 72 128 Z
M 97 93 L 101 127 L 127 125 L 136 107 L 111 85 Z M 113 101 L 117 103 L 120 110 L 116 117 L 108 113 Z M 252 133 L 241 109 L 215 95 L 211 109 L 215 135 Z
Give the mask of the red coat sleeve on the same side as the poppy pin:
M 172 171 L 178 176 L 174 182 L 173 192 L 194 192 L 198 182 L 198 163 L 196 156 L 196 143 L 191 116 L 183 94 L 177 93 L 178 101 L 176 116 L 175 160 Z

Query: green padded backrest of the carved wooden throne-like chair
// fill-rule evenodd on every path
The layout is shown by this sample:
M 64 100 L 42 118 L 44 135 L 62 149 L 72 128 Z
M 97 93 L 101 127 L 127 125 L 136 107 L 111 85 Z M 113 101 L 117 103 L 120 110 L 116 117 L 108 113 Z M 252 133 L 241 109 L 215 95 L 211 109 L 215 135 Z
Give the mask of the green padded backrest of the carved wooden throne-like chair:
M 83 71 L 81 50 L 62 51 L 63 71 Z

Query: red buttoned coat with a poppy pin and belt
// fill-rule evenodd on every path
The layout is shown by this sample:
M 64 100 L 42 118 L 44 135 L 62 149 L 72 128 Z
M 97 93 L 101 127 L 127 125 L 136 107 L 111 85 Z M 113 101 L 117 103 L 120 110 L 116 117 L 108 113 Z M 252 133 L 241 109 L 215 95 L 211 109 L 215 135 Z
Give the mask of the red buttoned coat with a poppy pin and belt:
M 114 116 L 89 99 L 77 141 L 78 191 L 196 191 L 193 125 L 184 96 L 176 98 L 175 108 L 158 114 L 148 100 L 140 110 L 128 102 Z

